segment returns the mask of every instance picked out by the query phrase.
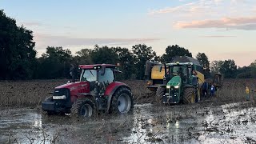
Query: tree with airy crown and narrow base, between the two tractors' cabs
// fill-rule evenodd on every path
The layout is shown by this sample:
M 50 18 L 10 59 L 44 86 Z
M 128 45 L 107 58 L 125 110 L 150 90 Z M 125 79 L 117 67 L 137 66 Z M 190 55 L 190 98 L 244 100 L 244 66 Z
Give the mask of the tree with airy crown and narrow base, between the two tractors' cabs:
M 137 78 L 144 78 L 145 64 L 147 60 L 151 60 L 156 57 L 156 53 L 152 50 L 152 47 L 148 47 L 145 44 L 138 44 L 132 46 L 132 51 L 134 53 L 135 58 L 135 67 L 137 70 Z

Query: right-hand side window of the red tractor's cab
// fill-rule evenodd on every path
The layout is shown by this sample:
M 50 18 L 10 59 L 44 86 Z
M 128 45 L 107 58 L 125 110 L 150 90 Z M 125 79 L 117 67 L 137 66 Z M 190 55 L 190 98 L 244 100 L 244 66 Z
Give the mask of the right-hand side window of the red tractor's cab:
M 98 73 L 98 82 L 102 82 L 105 86 L 109 85 L 111 82 L 114 82 L 114 73 L 111 68 L 105 69 L 105 74 Z

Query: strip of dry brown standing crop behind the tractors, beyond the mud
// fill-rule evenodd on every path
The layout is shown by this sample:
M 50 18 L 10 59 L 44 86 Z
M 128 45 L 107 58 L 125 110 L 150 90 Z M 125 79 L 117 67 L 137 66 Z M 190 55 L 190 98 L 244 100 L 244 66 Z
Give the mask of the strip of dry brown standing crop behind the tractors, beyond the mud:
M 66 83 L 68 80 L 32 80 L 32 81 L 1 81 L 0 106 L 40 106 L 41 102 L 51 94 L 54 87 Z M 124 81 L 130 86 L 135 102 L 152 102 L 154 94 L 146 89 L 146 82 L 139 80 Z M 218 90 L 214 102 L 244 102 L 246 101 L 246 86 L 256 90 L 255 79 L 225 79 L 223 87 Z M 251 102 L 256 101 L 256 92 L 250 91 Z

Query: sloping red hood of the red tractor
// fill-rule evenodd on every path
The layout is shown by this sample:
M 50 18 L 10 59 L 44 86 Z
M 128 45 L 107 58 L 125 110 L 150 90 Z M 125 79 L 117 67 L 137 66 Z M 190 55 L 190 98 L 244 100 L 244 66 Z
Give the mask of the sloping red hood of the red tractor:
M 55 87 L 55 89 L 63 89 L 63 88 L 69 89 L 70 91 L 78 90 L 78 89 L 90 91 L 90 82 L 70 82 L 70 83 L 66 83 L 61 86 Z

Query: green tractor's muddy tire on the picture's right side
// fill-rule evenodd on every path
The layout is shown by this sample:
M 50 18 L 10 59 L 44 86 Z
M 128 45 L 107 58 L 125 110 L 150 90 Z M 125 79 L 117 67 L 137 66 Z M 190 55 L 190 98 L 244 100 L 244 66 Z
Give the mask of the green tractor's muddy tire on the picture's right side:
M 186 87 L 183 95 L 183 103 L 194 103 L 195 102 L 195 89 L 194 87 Z

